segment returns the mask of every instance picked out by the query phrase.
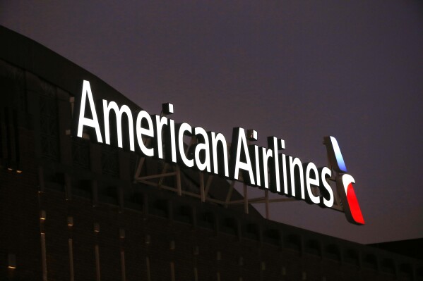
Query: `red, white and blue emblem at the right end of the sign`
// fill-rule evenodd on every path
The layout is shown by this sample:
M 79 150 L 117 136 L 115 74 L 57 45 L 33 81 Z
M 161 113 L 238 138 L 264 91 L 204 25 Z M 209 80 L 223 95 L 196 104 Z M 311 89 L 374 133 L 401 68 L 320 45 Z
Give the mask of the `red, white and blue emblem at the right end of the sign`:
M 362 210 L 358 204 L 354 187 L 352 187 L 355 180 L 352 175 L 347 174 L 347 167 L 345 166 L 338 142 L 335 137 L 325 137 L 324 144 L 328 151 L 330 166 L 335 170 L 335 173 L 338 173 L 336 175 L 336 188 L 338 189 L 338 194 L 341 196 L 345 216 L 347 216 L 347 220 L 350 223 L 364 225 Z

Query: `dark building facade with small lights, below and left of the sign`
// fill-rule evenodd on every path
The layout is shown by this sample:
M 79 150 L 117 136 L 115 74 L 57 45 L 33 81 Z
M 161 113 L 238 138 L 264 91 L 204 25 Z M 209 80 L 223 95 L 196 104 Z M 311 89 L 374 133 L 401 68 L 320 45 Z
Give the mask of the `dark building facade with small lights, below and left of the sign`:
M 226 180 L 71 137 L 83 80 L 139 107 L 28 38 L 0 38 L 0 280 L 423 280 L 415 258 L 219 204 Z

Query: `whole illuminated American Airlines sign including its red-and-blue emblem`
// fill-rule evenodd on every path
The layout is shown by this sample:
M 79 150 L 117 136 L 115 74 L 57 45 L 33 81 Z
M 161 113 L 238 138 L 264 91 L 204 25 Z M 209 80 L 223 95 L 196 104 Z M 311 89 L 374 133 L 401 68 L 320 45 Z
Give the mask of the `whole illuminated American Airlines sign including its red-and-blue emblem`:
M 173 105 L 164 104 L 163 112 L 166 115 L 174 113 Z M 111 123 L 115 125 L 111 126 Z M 116 127 L 114 134 L 110 127 Z M 76 137 L 82 137 L 84 131 L 90 134 L 91 140 L 98 143 L 111 144 L 113 137 L 118 147 L 136 151 L 142 156 L 163 159 L 229 180 L 242 180 L 252 187 L 268 189 L 323 208 L 330 208 L 334 204 L 333 190 L 328 184 L 328 179 L 333 177 L 333 170 L 328 167 L 318 168 L 311 162 L 302 163 L 297 157 L 280 153 L 285 149 L 283 139 L 268 137 L 268 148 L 257 146 L 250 143 L 258 139 L 255 130 L 246 131 L 242 127 L 235 127 L 228 151 L 225 136 L 220 132 L 191 127 L 188 123 L 175 123 L 165 115 L 150 115 L 143 110 L 133 112 L 128 106 L 119 107 L 114 101 L 103 99 L 95 103 L 90 82 L 85 80 L 81 96 L 75 99 L 72 128 Z M 197 139 L 189 154 L 186 154 L 184 146 L 186 135 Z M 151 142 L 145 142 L 148 138 Z M 336 175 L 340 175 L 338 180 L 343 179 L 342 185 L 347 185 L 342 204 L 357 203 L 358 207 L 352 189 L 354 179 L 345 174 L 345 163 L 338 142 L 333 137 L 330 137 L 330 141 L 330 144 L 326 144 L 328 155 L 335 158 L 335 161 L 330 161 L 331 166 Z M 357 208 L 350 206 L 348 210 L 351 210 L 349 214 L 354 214 L 350 216 L 352 219 L 347 215 L 350 222 L 364 224 L 364 220 L 357 219 Z M 359 214 L 361 216 L 361 211 Z

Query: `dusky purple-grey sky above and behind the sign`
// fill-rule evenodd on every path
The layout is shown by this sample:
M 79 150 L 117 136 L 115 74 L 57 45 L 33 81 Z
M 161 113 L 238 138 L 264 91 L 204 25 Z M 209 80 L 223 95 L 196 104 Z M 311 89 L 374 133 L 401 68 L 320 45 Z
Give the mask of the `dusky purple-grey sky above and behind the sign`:
M 422 2 L 140 2 L 1 1 L 0 25 L 228 141 L 254 128 L 326 166 L 335 136 L 367 225 L 304 201 L 272 204 L 272 220 L 360 243 L 423 237 Z

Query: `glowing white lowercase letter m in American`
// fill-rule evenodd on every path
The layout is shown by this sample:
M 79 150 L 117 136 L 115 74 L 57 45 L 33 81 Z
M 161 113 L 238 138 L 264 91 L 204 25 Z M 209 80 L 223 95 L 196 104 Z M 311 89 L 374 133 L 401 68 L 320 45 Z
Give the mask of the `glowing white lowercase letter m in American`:
M 117 103 L 114 101 L 110 101 L 107 104 L 107 101 L 103 99 L 103 113 L 105 116 L 105 138 L 106 144 L 110 144 L 110 125 L 109 125 L 109 113 L 110 110 L 113 109 L 114 113 L 116 114 L 116 129 L 117 129 L 117 146 L 122 148 L 122 113 L 126 113 L 128 117 L 128 128 L 129 128 L 129 149 L 131 151 L 135 151 L 135 144 L 133 141 L 133 120 L 132 120 L 132 113 L 131 109 L 128 106 L 123 105 L 119 109 Z

